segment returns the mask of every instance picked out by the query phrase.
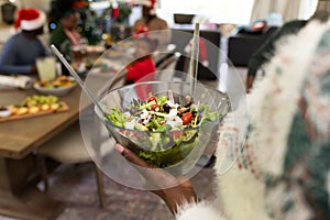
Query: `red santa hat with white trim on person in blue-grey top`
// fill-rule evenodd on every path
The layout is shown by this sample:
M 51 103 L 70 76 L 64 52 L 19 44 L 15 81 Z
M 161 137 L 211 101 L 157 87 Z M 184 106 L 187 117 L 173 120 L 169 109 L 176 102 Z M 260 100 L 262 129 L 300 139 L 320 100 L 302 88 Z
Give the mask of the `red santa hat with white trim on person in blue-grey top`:
M 21 9 L 14 23 L 15 29 L 33 31 L 42 28 L 46 22 L 44 12 L 36 9 Z

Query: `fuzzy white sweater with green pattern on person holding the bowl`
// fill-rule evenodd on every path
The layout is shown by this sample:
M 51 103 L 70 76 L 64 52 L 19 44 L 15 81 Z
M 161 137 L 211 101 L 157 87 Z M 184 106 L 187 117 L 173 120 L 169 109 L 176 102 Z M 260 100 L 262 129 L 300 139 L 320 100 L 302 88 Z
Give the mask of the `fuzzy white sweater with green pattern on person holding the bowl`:
M 310 23 L 278 45 L 249 95 L 248 140 L 232 141 L 244 131 L 231 117 L 222 127 L 217 199 L 187 204 L 176 218 L 330 219 L 329 69 L 330 23 Z

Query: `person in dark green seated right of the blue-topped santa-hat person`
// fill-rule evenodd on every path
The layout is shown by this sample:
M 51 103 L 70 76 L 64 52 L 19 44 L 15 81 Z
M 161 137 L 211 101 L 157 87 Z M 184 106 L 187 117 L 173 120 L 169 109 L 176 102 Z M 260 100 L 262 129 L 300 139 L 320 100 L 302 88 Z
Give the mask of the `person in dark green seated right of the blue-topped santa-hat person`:
M 79 13 L 75 10 L 67 10 L 63 13 L 59 25 L 52 32 L 50 43 L 54 44 L 66 58 L 70 58 L 72 47 L 79 45 L 80 34 L 78 25 Z

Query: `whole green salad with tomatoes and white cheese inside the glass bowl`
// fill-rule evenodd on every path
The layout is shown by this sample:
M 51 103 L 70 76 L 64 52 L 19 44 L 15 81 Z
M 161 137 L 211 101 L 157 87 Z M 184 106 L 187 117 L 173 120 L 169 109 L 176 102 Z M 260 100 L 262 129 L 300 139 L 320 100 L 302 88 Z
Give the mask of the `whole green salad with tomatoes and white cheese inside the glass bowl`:
M 135 145 L 138 156 L 158 167 L 168 167 L 194 150 L 204 135 L 202 124 L 221 118 L 207 103 L 194 103 L 190 97 L 183 102 L 176 103 L 170 91 L 168 96 L 150 95 L 146 100 L 133 99 L 124 112 L 112 108 L 108 116 L 113 125 L 124 129 L 120 135 L 129 141 L 128 145 Z M 141 138 L 135 130 L 144 135 Z

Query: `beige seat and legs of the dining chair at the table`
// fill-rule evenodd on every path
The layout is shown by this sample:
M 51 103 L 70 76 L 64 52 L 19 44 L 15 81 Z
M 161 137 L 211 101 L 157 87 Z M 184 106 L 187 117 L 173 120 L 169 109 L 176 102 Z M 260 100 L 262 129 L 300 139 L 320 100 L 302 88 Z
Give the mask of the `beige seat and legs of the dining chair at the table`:
M 82 141 L 79 121 L 72 124 L 61 134 L 46 142 L 41 148 L 38 148 L 37 164 L 40 175 L 44 184 L 44 191 L 47 191 L 50 187 L 48 172 L 45 163 L 46 157 L 52 158 L 61 164 L 80 164 L 92 162 L 92 158 Z M 94 164 L 94 166 L 96 172 L 99 205 L 101 208 L 103 208 L 106 205 L 102 177 L 103 174 L 96 164 Z

